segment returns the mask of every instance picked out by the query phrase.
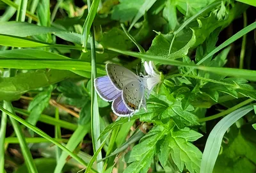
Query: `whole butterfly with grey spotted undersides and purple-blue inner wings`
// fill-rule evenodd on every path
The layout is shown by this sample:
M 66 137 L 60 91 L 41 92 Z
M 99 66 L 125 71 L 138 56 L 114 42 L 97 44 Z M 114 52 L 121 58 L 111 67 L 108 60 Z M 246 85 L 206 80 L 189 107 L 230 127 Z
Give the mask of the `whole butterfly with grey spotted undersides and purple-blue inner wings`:
M 106 64 L 106 76 L 94 80 L 95 90 L 106 102 L 113 102 L 111 109 L 117 116 L 129 117 L 145 107 L 145 77 L 117 64 Z

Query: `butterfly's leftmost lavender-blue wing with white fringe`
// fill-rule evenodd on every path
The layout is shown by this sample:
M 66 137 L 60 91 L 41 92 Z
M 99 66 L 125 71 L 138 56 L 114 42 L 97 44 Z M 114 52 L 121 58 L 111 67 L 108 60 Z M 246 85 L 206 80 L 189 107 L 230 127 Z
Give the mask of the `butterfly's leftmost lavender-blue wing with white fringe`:
M 122 91 L 116 89 L 116 87 L 113 86 L 111 80 L 107 75 L 104 77 L 97 77 L 94 80 L 94 87 L 100 98 L 102 98 L 106 102 L 111 102 L 115 100 L 115 98 L 118 98 L 118 96 L 122 95 Z

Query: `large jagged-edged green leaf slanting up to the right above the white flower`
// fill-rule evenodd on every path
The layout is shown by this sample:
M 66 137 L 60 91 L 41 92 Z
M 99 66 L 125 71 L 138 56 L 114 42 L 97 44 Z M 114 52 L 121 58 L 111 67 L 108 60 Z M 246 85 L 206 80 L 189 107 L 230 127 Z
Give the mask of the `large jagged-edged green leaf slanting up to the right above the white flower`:
M 205 41 L 205 39 L 214 31 L 216 28 L 224 28 L 234 20 L 234 18 L 242 13 L 243 10 L 246 10 L 247 6 L 241 6 L 236 4 L 230 13 L 227 15 L 227 19 L 218 20 L 216 19 L 216 14 L 212 12 L 209 17 L 198 18 L 198 27 L 194 27 L 195 24 L 191 24 L 191 29 L 183 29 L 180 31 L 175 40 L 173 41 L 172 49 L 169 55 L 170 45 L 173 39 L 173 34 L 159 34 L 152 41 L 150 49 L 147 51 L 147 54 L 163 56 L 168 59 L 177 59 L 188 54 L 188 50 L 200 45 Z M 192 31 L 191 31 L 192 30 Z

